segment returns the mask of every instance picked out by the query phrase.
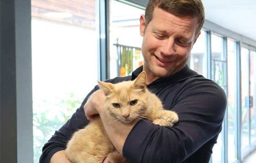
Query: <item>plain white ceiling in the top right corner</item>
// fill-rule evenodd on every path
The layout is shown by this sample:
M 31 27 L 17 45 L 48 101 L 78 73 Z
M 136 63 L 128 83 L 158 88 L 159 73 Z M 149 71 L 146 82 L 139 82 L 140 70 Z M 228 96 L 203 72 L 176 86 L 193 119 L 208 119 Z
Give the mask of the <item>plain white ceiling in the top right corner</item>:
M 256 41 L 256 0 L 202 0 L 205 18 Z

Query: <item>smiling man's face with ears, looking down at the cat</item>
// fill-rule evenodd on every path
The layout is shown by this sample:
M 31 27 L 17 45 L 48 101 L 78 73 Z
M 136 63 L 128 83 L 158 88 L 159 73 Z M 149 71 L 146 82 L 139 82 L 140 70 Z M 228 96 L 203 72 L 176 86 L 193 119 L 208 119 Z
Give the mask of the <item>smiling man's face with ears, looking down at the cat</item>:
M 168 77 L 186 64 L 199 34 L 197 17 L 177 17 L 158 7 L 145 27 L 140 17 L 140 35 L 143 36 L 142 54 L 148 83 L 159 77 Z

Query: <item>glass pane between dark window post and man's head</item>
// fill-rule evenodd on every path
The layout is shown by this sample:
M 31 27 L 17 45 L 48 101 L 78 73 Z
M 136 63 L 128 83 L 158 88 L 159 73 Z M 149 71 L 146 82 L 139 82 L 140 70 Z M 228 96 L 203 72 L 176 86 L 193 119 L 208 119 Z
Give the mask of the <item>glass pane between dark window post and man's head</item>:
M 143 65 L 139 17 L 144 10 L 110 0 L 110 77 L 127 76 Z

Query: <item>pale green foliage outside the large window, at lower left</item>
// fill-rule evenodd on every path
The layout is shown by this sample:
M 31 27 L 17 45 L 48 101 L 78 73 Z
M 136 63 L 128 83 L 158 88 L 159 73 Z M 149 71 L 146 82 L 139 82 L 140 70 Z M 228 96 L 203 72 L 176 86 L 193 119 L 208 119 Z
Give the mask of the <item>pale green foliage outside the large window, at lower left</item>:
M 49 101 L 51 100 L 45 100 L 42 104 L 33 106 L 34 163 L 38 163 L 43 145 L 47 143 L 55 130 L 67 122 L 75 109 L 80 107 L 83 98 L 69 93 L 64 99 Z

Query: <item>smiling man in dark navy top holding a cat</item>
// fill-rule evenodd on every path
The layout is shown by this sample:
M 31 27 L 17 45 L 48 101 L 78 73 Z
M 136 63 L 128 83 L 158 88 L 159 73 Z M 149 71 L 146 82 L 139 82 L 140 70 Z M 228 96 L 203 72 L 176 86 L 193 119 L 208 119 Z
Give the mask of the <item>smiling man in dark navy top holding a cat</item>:
M 132 76 L 108 80 L 134 80 L 145 71 L 148 89 L 160 97 L 165 109 L 178 114 L 176 125 L 157 126 L 147 120 L 110 125 L 103 107 L 105 96 L 95 87 L 80 109 L 45 144 L 40 161 L 68 163 L 64 149 L 72 133 L 99 114 L 117 151 L 133 163 L 208 163 L 221 131 L 226 96 L 216 83 L 187 66 L 203 22 L 201 0 L 149 0 L 145 15 L 140 17 L 144 66 L 133 71 Z

